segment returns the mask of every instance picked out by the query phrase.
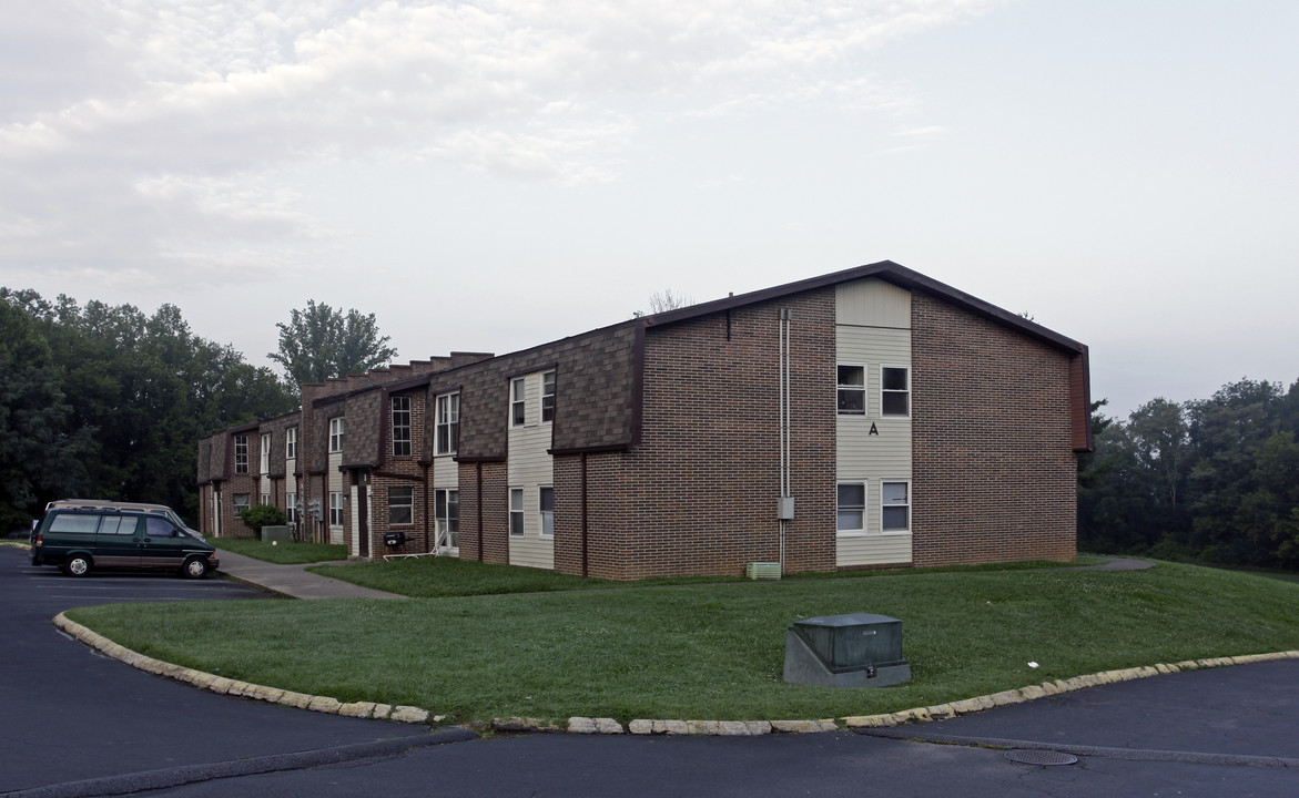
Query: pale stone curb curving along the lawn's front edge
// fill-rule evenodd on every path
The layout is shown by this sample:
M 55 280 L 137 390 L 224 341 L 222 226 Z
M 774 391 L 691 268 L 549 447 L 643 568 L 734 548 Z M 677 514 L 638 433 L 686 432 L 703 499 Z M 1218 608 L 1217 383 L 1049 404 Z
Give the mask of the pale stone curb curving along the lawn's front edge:
M 221 693 L 225 695 L 238 695 L 253 701 L 268 703 L 281 703 L 284 706 L 312 710 L 313 712 L 329 712 L 331 715 L 344 715 L 348 718 L 368 718 L 374 720 L 395 720 L 400 723 L 429 723 L 436 724 L 446 718 L 434 715 L 429 710 L 412 706 L 390 706 L 386 703 L 373 703 L 357 701 L 343 703 L 327 695 L 307 695 L 279 688 L 249 684 L 216 676 L 192 668 L 184 668 L 169 662 L 144 657 L 121 646 L 103 635 L 97 635 L 74 620 L 69 620 L 64 612 L 55 616 L 55 625 L 68 635 L 81 640 L 86 645 L 103 654 L 121 660 L 134 668 L 147 671 L 158 676 L 191 684 L 196 688 Z M 1187 659 L 1173 664 L 1154 664 L 1137 668 L 1124 668 L 1118 671 L 1102 671 L 1073 679 L 1057 679 L 1043 681 L 1042 684 L 1028 685 L 1017 690 L 1003 690 L 991 695 L 979 695 L 942 703 L 931 707 L 914 707 L 898 712 L 885 712 L 881 715 L 850 715 L 839 719 L 824 720 L 633 720 L 626 727 L 612 718 L 569 718 L 566 727 L 557 727 L 553 723 L 536 718 L 498 718 L 491 723 L 491 728 L 498 732 L 568 732 L 570 734 L 664 734 L 664 736 L 707 736 L 707 737 L 751 737 L 757 734 L 807 734 L 818 732 L 837 732 L 839 729 L 872 729 L 907 725 L 912 723 L 929 723 L 933 720 L 946 720 L 970 712 L 982 712 L 994 707 L 1024 703 L 1048 695 L 1073 693 L 1087 688 L 1105 684 L 1118 684 L 1133 679 L 1147 679 L 1164 673 L 1179 673 L 1182 671 L 1198 671 L 1202 668 L 1221 668 L 1228 666 L 1250 664 L 1256 662 L 1272 662 L 1277 659 L 1299 659 L 1299 651 L 1274 651 L 1268 654 L 1244 654 L 1239 657 L 1213 657 L 1207 659 Z

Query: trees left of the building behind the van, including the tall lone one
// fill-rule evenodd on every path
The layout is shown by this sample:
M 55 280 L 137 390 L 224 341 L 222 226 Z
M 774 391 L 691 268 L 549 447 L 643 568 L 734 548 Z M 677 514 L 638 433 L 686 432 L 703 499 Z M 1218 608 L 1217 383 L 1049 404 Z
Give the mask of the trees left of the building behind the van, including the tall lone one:
M 201 437 L 290 413 L 300 383 L 396 354 L 373 314 L 309 302 L 277 327 L 268 357 L 282 375 L 194 335 L 174 305 L 147 315 L 0 288 L 0 535 L 70 497 L 165 503 L 194 522 Z

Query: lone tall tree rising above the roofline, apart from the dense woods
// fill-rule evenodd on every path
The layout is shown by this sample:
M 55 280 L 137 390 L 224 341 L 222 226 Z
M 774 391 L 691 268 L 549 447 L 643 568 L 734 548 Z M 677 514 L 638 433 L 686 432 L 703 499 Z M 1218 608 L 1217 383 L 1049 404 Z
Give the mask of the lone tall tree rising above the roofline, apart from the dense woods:
M 279 363 L 284 379 L 301 388 L 331 376 L 362 374 L 385 366 L 397 350 L 388 346 L 388 336 L 379 336 L 374 314 L 359 310 L 335 310 L 325 302 L 308 300 L 305 310 L 295 309 L 288 323 L 277 323 L 279 352 L 266 357 Z

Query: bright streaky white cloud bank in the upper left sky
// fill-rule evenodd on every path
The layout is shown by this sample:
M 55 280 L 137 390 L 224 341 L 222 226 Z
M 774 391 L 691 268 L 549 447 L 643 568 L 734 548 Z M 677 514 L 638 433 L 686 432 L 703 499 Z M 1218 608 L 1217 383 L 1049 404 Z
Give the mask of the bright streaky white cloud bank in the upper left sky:
M 301 191 L 277 184 L 310 165 L 572 186 L 617 179 L 651 117 L 825 97 L 894 113 L 909 100 L 865 69 L 870 49 L 998 5 L 23 4 L 0 47 L 0 258 L 187 263 L 175 274 L 195 279 L 222 253 L 322 245 Z

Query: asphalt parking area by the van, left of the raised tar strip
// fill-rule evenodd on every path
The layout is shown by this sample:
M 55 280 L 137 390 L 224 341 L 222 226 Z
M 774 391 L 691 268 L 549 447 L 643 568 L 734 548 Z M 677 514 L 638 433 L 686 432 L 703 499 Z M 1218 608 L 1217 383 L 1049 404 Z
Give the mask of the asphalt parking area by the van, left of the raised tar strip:
M 74 579 L 0 548 L 0 793 L 427 732 L 205 693 L 96 654 L 51 623 L 86 605 L 235 599 L 283 601 L 225 579 Z

